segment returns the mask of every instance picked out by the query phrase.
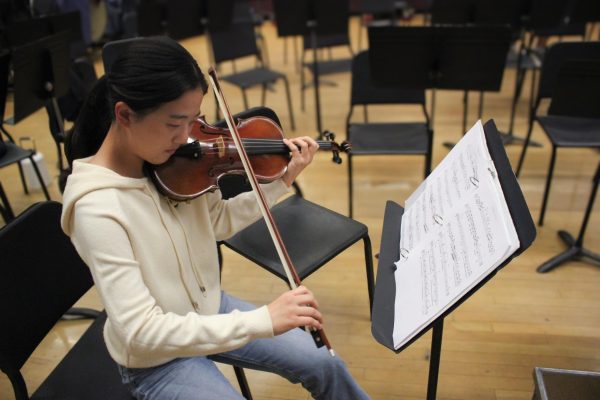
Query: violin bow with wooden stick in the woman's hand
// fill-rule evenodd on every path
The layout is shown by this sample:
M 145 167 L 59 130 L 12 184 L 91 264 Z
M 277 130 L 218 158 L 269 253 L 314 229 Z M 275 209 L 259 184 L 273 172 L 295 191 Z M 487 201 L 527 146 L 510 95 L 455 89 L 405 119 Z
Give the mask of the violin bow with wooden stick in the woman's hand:
M 271 210 L 268 207 L 265 195 L 260 186 L 258 185 L 258 179 L 256 179 L 256 175 L 254 174 L 254 170 L 252 169 L 252 165 L 250 164 L 250 160 L 248 159 L 246 150 L 242 145 L 242 140 L 237 131 L 236 124 L 233 122 L 233 117 L 231 116 L 231 112 L 229 111 L 229 106 L 227 105 L 225 97 L 223 96 L 223 93 L 221 91 L 221 86 L 219 85 L 219 78 L 217 77 L 217 72 L 213 67 L 209 69 L 208 76 L 212 84 L 215 97 L 217 98 L 217 102 L 219 103 L 219 108 L 223 113 L 223 117 L 227 122 L 227 126 L 229 127 L 229 131 L 231 132 L 231 137 L 233 139 L 233 142 L 235 143 L 235 147 L 237 148 L 238 154 L 240 155 L 240 160 L 242 161 L 242 165 L 244 166 L 244 170 L 246 171 L 246 175 L 248 176 L 250 185 L 252 186 L 253 192 L 256 195 L 258 206 L 267 225 L 267 229 L 269 230 L 269 234 L 271 235 L 271 239 L 273 240 L 273 244 L 275 245 L 275 249 L 277 250 L 277 254 L 279 255 L 281 265 L 283 266 L 285 274 L 288 278 L 289 286 L 291 289 L 295 289 L 296 287 L 302 284 L 300 281 L 300 277 L 298 276 L 298 272 L 296 271 L 296 268 L 292 263 L 292 260 L 287 252 L 287 249 L 285 248 L 285 245 L 283 244 L 283 240 L 281 239 L 281 235 L 279 233 L 279 230 L 277 229 L 277 225 L 275 225 L 275 221 L 273 219 L 273 215 L 271 214 Z M 325 345 L 327 346 L 329 353 L 332 356 L 335 356 L 335 352 L 331 348 L 329 340 L 327 340 L 327 336 L 325 335 L 325 331 L 323 329 L 308 331 L 312 335 L 317 347 L 322 347 L 323 345 Z

